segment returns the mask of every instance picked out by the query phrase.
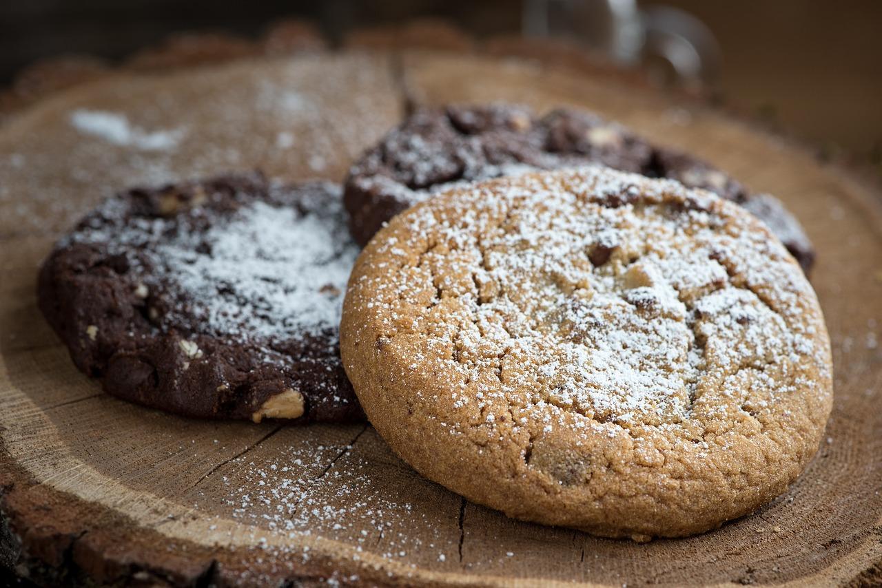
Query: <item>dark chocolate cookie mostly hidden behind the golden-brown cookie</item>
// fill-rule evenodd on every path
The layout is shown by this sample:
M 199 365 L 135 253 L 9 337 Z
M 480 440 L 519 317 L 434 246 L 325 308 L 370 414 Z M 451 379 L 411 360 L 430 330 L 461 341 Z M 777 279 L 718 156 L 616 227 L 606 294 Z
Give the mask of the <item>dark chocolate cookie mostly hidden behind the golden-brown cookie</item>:
M 417 110 L 349 172 L 344 203 L 355 241 L 370 241 L 393 216 L 455 182 L 589 163 L 649 177 L 676 179 L 744 205 L 751 195 L 721 170 L 686 153 L 650 145 L 623 126 L 574 108 L 539 118 L 507 104 Z M 757 206 L 804 270 L 814 251 L 802 227 L 774 197 Z M 786 225 L 793 230 L 778 233 Z M 791 239 L 801 234 L 796 241 Z

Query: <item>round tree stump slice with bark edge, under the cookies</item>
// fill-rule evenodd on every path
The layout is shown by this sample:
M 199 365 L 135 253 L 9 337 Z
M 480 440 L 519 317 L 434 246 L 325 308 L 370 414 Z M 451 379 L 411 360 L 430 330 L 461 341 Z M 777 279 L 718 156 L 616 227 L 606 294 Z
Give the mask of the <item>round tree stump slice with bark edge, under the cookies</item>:
M 589 108 L 796 212 L 818 248 L 835 402 L 785 495 L 643 545 L 519 523 L 422 479 L 367 425 L 194 421 L 108 397 L 36 309 L 38 264 L 101 197 L 255 167 L 340 181 L 408 104 L 452 100 Z M 75 128 L 96 111 L 128 135 Z M 145 148 L 151 133 L 174 145 Z M 882 190 L 803 146 L 578 60 L 373 47 L 60 90 L 0 126 L 0 177 L 0 563 L 38 583 L 882 582 Z

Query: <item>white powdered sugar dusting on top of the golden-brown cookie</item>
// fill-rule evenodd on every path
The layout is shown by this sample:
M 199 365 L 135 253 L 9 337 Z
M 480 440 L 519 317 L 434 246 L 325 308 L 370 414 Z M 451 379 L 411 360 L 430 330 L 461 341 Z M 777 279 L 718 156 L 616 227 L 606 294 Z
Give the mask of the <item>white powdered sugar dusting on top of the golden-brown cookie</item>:
M 458 373 L 453 406 L 488 426 L 679 427 L 829 394 L 811 287 L 734 205 L 601 167 L 440 198 L 407 217 L 412 242 L 379 247 L 408 279 L 377 272 L 359 291 L 380 293 L 368 307 L 390 345 L 407 313 L 430 331 L 398 353 Z

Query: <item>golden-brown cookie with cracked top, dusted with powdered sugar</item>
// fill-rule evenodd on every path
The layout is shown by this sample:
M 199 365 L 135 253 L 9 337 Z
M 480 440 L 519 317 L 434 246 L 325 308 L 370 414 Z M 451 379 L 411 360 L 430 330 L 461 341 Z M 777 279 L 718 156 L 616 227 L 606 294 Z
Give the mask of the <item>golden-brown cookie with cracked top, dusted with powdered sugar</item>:
M 422 475 L 511 517 L 635 540 L 781 494 L 833 393 L 818 300 L 766 226 L 601 166 L 395 217 L 355 263 L 340 351 Z

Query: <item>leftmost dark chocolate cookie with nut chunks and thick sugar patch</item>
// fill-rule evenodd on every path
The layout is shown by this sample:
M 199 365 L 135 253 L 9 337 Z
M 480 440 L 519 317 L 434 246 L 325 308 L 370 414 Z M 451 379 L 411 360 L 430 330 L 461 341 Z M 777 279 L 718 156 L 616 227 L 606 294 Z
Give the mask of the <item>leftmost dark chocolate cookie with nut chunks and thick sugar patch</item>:
M 195 417 L 355 421 L 338 324 L 357 252 L 336 186 L 223 176 L 108 199 L 56 244 L 38 298 L 114 396 Z

